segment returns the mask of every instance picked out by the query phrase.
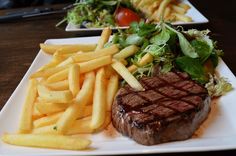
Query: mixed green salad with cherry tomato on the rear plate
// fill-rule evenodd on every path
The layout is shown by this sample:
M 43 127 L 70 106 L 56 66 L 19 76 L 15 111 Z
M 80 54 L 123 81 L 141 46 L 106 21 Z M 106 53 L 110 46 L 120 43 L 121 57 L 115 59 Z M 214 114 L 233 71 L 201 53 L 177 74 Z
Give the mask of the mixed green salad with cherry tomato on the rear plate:
M 74 8 L 57 24 L 72 23 L 81 28 L 128 26 L 140 21 L 129 0 L 77 0 Z

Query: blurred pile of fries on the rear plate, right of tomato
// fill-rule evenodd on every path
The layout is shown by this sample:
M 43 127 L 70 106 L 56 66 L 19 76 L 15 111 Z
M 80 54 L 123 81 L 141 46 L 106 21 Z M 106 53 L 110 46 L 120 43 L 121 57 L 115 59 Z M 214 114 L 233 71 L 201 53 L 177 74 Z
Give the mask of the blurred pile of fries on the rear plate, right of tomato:
M 188 4 L 180 0 L 131 0 L 133 6 L 144 13 L 148 21 L 191 22 L 192 18 L 185 14 L 190 9 Z

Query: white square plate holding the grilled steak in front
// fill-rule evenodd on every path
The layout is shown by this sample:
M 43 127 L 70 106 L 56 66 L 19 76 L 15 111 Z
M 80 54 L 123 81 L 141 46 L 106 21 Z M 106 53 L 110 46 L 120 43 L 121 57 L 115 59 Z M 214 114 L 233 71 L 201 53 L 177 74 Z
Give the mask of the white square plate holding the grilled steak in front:
M 84 37 L 71 39 L 51 39 L 47 44 L 97 43 L 98 37 Z M 22 81 L 7 101 L 0 113 L 0 136 L 14 133 L 17 130 L 20 112 L 25 98 L 29 76 L 40 66 L 46 64 L 51 56 L 40 51 Z M 228 78 L 236 88 L 236 79 L 225 63 L 220 60 L 217 68 L 220 75 Z M 127 137 L 123 137 L 109 129 L 96 135 L 86 136 L 92 140 L 90 150 L 67 151 L 55 149 L 40 149 L 8 145 L 0 141 L 0 155 L 112 155 L 136 153 L 168 153 L 187 151 L 212 151 L 236 149 L 236 90 L 221 97 L 212 104 L 209 118 L 198 130 L 198 137 L 186 141 L 165 143 L 155 146 L 143 146 Z

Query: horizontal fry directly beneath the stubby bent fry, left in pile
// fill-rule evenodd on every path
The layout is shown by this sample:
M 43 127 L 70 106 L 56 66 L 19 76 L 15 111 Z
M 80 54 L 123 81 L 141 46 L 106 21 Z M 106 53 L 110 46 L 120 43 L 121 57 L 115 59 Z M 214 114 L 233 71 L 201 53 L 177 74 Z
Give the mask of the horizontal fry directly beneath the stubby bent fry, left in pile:
M 42 114 L 52 114 L 64 111 L 69 106 L 68 103 L 36 102 L 36 109 Z

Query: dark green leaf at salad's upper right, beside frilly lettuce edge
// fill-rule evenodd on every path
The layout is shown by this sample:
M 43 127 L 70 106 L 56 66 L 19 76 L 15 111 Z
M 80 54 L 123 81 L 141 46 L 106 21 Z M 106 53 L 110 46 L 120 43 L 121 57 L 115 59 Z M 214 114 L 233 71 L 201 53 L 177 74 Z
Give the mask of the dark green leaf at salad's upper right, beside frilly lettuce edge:
M 191 45 L 194 47 L 195 51 L 199 55 L 201 63 L 204 63 L 212 53 L 212 48 L 208 45 L 207 42 L 203 40 L 193 40 Z

